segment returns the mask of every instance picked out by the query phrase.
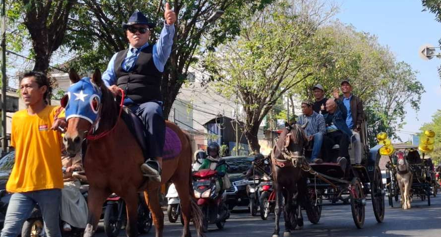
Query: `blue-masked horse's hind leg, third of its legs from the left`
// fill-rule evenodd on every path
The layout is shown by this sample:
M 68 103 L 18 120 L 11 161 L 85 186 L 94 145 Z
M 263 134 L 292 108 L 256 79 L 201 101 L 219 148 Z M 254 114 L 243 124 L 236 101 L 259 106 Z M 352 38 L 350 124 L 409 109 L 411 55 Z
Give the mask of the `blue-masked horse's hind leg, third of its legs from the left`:
M 155 225 L 156 231 L 155 237 L 162 237 L 162 232 L 164 231 L 164 213 L 159 205 L 159 188 L 144 192 L 144 197 L 152 213 L 153 224 Z

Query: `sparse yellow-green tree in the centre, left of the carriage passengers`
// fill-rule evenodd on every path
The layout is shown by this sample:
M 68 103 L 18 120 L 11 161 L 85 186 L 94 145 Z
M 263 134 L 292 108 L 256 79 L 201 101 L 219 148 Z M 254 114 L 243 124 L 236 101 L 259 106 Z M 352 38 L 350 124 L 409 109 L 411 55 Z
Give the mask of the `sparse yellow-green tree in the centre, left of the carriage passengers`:
M 227 98 L 237 97 L 244 108 L 244 134 L 252 152 L 258 153 L 259 126 L 287 91 L 311 76 L 328 57 L 326 38 L 317 37 L 323 21 L 313 21 L 319 1 L 277 1 L 242 23 L 237 40 L 219 47 L 203 61 L 217 89 Z M 320 6 L 318 9 L 309 6 Z

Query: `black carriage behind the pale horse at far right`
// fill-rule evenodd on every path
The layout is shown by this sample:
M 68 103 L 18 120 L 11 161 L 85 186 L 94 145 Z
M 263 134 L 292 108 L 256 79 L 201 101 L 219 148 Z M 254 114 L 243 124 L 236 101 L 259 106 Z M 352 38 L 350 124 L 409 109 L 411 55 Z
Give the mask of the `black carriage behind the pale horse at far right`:
M 386 164 L 386 187 L 389 206 L 393 207 L 393 199 L 398 201 L 401 195 L 397 181 L 397 159 L 401 154 L 406 160 L 409 172 L 412 174 L 412 185 L 410 187 L 410 196 L 418 197 L 421 201 L 427 200 L 430 206 L 430 197 L 437 195 L 437 185 L 434 172 L 434 165 L 430 158 L 425 158 L 424 153 L 420 156 L 418 145 L 395 145 L 395 152 L 389 156 Z

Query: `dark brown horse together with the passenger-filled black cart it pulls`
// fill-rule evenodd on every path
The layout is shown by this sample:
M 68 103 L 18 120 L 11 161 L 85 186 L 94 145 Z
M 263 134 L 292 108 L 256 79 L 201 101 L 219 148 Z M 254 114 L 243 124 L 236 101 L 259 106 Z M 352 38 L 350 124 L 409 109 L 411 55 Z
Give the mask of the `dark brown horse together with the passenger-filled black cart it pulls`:
M 310 222 L 317 224 L 322 206 L 351 205 L 355 225 L 362 228 L 365 222 L 365 205 L 367 200 L 371 200 L 377 221 L 383 221 L 384 190 L 378 167 L 379 149 L 382 146 L 368 149 L 366 123 L 363 128 L 362 163 L 358 166 L 351 164 L 344 172 L 335 163 L 310 165 L 306 162 L 309 154 L 308 151 L 304 152 L 306 137 L 300 126 L 287 126 L 280 134 L 272 152 L 274 187 L 278 193 L 273 237 L 279 235 L 278 217 L 282 195 L 285 198 L 284 236 L 289 236 L 296 226 L 303 226 L 301 206 L 305 208 Z

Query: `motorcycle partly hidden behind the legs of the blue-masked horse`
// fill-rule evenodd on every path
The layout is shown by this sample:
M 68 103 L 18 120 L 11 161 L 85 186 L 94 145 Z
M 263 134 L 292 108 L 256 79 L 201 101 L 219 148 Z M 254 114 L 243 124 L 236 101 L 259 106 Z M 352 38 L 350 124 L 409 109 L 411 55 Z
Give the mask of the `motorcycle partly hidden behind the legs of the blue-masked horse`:
M 144 195 L 139 193 L 137 227 L 139 234 L 147 234 L 152 228 L 152 214 L 145 204 Z M 115 193 L 106 201 L 104 211 L 104 232 L 108 237 L 118 237 L 120 231 L 126 228 L 126 202 Z

